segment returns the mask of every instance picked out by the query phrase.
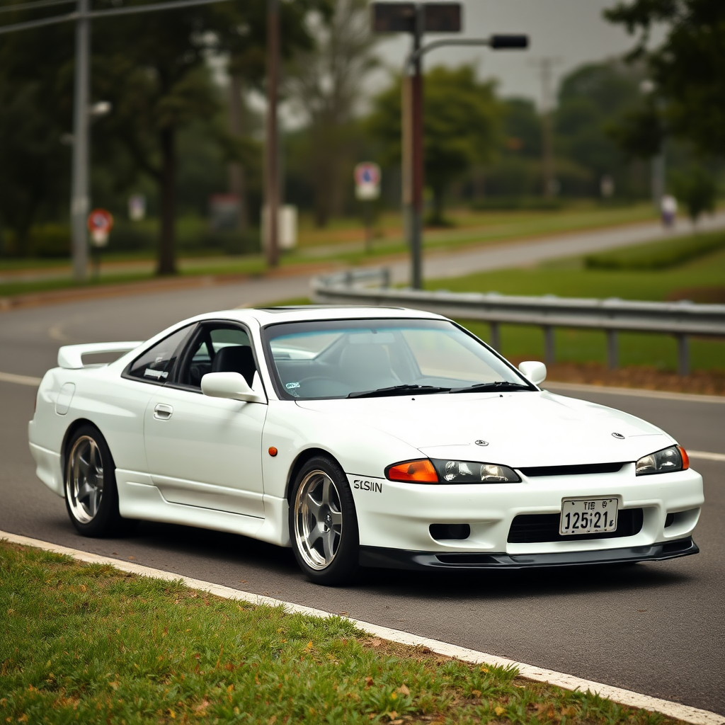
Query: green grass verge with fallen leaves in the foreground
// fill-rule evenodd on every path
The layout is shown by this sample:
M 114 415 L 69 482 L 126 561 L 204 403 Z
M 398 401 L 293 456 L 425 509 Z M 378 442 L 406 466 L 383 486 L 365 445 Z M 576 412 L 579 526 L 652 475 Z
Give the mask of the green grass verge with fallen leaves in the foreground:
M 3 722 L 661 725 L 512 669 L 0 544 Z

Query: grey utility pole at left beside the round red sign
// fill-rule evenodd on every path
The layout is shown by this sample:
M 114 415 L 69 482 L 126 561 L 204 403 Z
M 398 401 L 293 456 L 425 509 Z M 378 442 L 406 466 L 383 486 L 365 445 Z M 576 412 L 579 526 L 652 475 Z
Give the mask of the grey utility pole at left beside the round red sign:
M 73 158 L 70 194 L 73 278 L 82 282 L 88 267 L 88 94 L 91 28 L 88 0 L 78 0 L 75 22 L 75 98 L 73 104 Z

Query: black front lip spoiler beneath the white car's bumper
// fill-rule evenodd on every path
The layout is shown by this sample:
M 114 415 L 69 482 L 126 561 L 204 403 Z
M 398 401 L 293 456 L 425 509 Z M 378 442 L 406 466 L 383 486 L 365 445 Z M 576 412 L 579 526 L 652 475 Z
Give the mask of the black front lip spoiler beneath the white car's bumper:
M 360 566 L 388 569 L 528 569 L 545 566 L 588 566 L 637 561 L 663 561 L 697 554 L 700 548 L 687 539 L 622 549 L 560 552 L 553 554 L 488 554 L 424 552 L 383 547 L 360 547 Z

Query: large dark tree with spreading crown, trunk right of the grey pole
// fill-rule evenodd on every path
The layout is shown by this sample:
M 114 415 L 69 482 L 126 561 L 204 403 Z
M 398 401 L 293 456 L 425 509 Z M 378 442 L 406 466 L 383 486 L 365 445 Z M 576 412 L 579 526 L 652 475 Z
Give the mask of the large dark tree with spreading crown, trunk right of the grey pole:
M 302 21 L 310 7 L 325 3 L 281 3 L 283 54 L 289 56 L 301 38 L 309 45 L 309 33 Z M 132 0 L 130 4 L 144 3 Z M 115 7 L 115 0 L 101 0 L 96 9 L 104 7 Z M 220 97 L 212 83 L 208 60 L 232 51 L 235 43 L 241 42 L 244 28 L 262 27 L 266 17 L 265 0 L 249 0 L 217 8 L 183 7 L 129 14 L 93 23 L 91 96 L 111 101 L 113 107 L 94 130 L 94 155 L 117 160 L 120 147 L 130 161 L 124 181 L 130 181 L 133 173 L 144 173 L 157 184 L 161 217 L 159 274 L 171 274 L 176 269 L 178 132 L 191 123 L 215 118 Z M 26 19 L 26 15 L 12 17 Z M 38 112 L 58 119 L 66 129 L 70 129 L 72 99 L 72 30 L 70 24 L 27 30 L 4 36 L 0 44 L 0 81 L 17 83 L 17 88 L 41 83 L 43 92 L 36 96 L 38 102 L 42 101 Z M 248 41 L 257 49 L 257 56 L 264 38 L 265 33 L 255 30 L 254 38 Z M 220 141 L 229 158 L 244 157 L 244 144 L 234 143 L 218 126 L 209 128 L 210 136 Z M 2 173 L 4 169 L 0 169 Z

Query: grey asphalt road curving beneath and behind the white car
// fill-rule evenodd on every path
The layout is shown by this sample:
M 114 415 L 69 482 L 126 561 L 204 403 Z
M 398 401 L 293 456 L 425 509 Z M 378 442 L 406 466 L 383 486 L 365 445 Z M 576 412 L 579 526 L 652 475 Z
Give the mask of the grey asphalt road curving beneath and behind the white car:
M 55 364 L 59 344 L 144 339 L 188 315 L 297 297 L 306 285 L 281 278 L 7 312 L 0 371 L 40 376 Z M 367 570 L 355 587 L 327 589 L 302 577 L 289 550 L 231 534 L 142 523 L 125 539 L 79 537 L 62 500 L 33 472 L 26 423 L 34 394 L 32 386 L 0 381 L 0 529 L 725 714 L 725 463 L 694 462 L 707 497 L 695 557 L 537 573 Z M 725 453 L 725 405 L 588 397 L 647 418 L 692 450 Z

